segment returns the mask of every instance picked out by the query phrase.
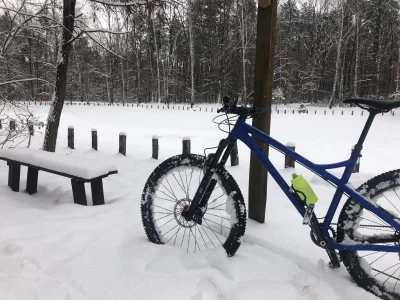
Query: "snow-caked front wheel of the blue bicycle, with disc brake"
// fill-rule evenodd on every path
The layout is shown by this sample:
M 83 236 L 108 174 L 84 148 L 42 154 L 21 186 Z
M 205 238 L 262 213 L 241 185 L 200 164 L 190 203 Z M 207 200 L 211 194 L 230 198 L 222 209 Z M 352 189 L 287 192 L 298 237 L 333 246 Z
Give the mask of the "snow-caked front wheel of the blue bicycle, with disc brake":
M 233 256 L 246 228 L 246 207 L 233 177 L 222 167 L 216 180 L 203 223 L 186 221 L 182 211 L 190 203 L 203 178 L 204 156 L 178 155 L 161 163 L 150 175 L 142 194 L 141 213 L 148 239 L 169 244 L 189 253 L 222 244 Z

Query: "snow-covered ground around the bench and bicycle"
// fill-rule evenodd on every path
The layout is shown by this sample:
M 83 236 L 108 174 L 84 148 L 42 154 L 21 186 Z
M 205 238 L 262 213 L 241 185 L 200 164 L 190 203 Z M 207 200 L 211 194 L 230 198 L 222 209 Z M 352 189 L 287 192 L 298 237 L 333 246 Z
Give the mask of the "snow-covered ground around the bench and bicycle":
M 48 106 L 34 110 L 45 119 Z M 274 113 L 272 136 L 294 142 L 314 162 L 344 160 L 366 120 L 366 114 L 355 110 L 351 116 L 351 110 L 343 116 L 339 110 L 334 116 Z M 328 268 L 326 254 L 310 241 L 308 227 L 272 181 L 266 223 L 248 221 L 244 243 L 232 258 L 221 248 L 187 254 L 148 242 L 140 217 L 147 177 L 162 160 L 181 152 L 182 137 L 191 137 L 194 153 L 216 146 L 226 134 L 211 122 L 214 116 L 204 109 L 66 106 L 57 152 L 118 167 L 117 175 L 104 180 L 104 206 L 75 205 L 70 181 L 48 173 L 39 174 L 34 196 L 13 193 L 7 165 L 0 161 L 0 299 L 376 299 L 358 288 L 344 267 Z M 353 185 L 400 167 L 399 125 L 400 115 L 377 116 Z M 75 127 L 73 151 L 66 147 L 68 126 Z M 90 150 L 92 128 L 98 130 L 98 152 Z M 127 157 L 117 154 L 121 131 L 127 133 Z M 153 135 L 160 136 L 159 161 L 150 158 Z M 36 134 L 33 148 L 41 142 Z M 250 155 L 244 145 L 239 155 L 240 165 L 228 170 L 247 201 Z M 273 151 L 271 158 L 283 168 L 281 154 Z M 292 172 L 282 170 L 288 179 Z M 303 168 L 296 172 L 311 182 L 322 217 L 333 189 Z M 25 168 L 21 174 L 23 190 Z

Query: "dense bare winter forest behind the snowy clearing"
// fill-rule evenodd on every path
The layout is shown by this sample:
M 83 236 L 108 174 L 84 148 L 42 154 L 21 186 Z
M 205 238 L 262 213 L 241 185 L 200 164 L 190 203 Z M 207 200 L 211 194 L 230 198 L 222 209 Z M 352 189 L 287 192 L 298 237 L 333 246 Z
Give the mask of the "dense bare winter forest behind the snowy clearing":
M 76 2 L 65 101 L 195 104 L 229 95 L 252 103 L 256 1 L 140 4 Z M 400 98 L 399 6 L 399 0 L 280 1 L 274 102 Z M 52 94 L 62 7 L 57 0 L 1 2 L 2 99 Z

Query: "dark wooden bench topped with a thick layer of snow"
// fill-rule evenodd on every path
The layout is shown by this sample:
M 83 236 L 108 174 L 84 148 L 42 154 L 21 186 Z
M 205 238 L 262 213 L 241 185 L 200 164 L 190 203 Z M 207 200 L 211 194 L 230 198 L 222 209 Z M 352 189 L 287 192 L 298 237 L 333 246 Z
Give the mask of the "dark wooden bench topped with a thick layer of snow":
M 94 160 L 36 149 L 15 148 L 0 150 L 0 159 L 9 166 L 8 186 L 19 191 L 21 165 L 28 167 L 26 191 L 37 192 L 38 173 L 44 171 L 71 178 L 72 193 L 76 204 L 87 205 L 85 182 L 90 182 L 93 205 L 104 204 L 103 178 L 118 173 L 104 160 Z

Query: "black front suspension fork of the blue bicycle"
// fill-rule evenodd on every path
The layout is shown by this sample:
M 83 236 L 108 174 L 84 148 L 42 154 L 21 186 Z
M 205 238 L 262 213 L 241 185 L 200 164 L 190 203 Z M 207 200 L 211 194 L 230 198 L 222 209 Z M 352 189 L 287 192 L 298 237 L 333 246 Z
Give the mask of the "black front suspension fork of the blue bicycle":
M 186 221 L 195 221 L 197 224 L 202 224 L 203 215 L 207 210 L 208 200 L 217 185 L 217 180 L 212 178 L 215 169 L 226 164 L 235 142 L 236 140 L 229 137 L 223 139 L 219 142 L 217 152 L 207 156 L 204 163 L 204 176 L 200 182 L 199 188 L 190 203 L 190 207 L 182 211 L 182 216 Z

